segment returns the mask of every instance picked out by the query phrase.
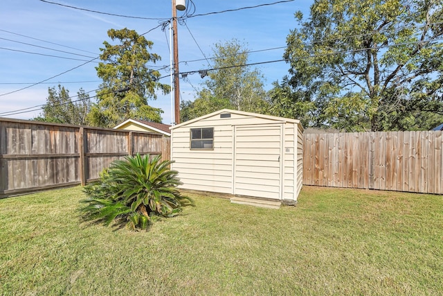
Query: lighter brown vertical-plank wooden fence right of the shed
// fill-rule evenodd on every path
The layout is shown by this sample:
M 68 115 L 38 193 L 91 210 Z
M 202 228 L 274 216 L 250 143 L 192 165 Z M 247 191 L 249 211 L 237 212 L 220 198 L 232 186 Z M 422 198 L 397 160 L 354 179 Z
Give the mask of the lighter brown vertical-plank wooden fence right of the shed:
M 442 131 L 304 134 L 303 184 L 443 193 Z

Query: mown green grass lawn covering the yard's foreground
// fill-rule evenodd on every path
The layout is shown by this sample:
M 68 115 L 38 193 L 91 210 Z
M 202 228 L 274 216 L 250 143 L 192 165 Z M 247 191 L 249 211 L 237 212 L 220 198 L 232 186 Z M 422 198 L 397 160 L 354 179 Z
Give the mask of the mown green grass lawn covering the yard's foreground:
M 437 295 L 443 196 L 303 187 L 296 207 L 190 195 L 149 232 L 80 223 L 80 187 L 0 200 L 0 295 Z

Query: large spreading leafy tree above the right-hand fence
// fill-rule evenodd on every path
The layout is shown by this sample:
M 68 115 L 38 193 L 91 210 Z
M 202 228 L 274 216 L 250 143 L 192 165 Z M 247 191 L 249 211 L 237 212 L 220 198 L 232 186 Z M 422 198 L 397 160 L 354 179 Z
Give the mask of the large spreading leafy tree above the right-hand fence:
M 296 19 L 284 58 L 312 126 L 406 130 L 443 113 L 441 1 L 316 0 Z

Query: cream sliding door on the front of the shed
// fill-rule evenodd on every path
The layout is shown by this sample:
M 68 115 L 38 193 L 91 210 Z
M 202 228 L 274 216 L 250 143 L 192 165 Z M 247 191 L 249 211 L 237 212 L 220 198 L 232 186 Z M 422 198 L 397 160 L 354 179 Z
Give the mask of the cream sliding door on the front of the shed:
M 235 126 L 234 194 L 280 199 L 282 125 Z

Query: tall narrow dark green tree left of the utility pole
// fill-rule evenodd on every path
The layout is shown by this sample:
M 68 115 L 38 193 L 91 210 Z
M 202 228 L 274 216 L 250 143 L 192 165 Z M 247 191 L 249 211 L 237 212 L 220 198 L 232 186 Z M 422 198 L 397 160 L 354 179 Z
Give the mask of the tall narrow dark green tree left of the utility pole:
M 98 103 L 91 110 L 91 123 L 112 127 L 126 119 L 161 122 L 163 111 L 147 104 L 149 98 L 157 98 L 156 91 L 170 92 L 169 85 L 158 82 L 159 71 L 147 67 L 148 62 L 161 60 L 148 51 L 154 43 L 127 28 L 111 29 L 108 36 L 120 44 L 105 41 L 105 48 L 100 49 L 104 62 L 96 70 L 103 82 L 97 92 Z

